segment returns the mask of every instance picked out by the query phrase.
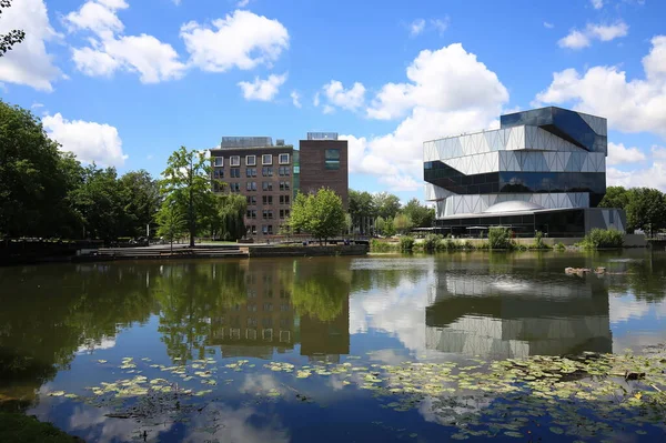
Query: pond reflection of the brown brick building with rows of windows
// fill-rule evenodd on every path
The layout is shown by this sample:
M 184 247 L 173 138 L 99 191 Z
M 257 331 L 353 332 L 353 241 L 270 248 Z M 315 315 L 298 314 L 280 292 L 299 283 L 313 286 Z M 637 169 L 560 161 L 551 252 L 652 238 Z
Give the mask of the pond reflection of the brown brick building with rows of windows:
M 289 289 L 280 284 L 279 268 L 256 266 L 245 272 L 246 303 L 228 308 L 211 319 L 209 343 L 224 356 L 271 359 L 297 341 L 297 325 Z

